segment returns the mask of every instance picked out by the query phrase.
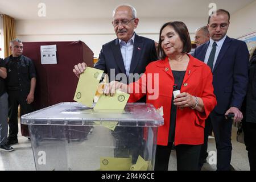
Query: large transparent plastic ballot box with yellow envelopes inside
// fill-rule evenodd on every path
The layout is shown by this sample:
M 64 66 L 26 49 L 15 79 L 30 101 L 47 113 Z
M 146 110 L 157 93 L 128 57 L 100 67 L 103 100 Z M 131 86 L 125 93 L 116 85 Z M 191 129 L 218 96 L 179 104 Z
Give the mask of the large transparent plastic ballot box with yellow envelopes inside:
M 94 110 L 62 102 L 23 115 L 21 123 L 30 131 L 36 170 L 146 171 L 154 170 L 164 119 L 151 104 Z

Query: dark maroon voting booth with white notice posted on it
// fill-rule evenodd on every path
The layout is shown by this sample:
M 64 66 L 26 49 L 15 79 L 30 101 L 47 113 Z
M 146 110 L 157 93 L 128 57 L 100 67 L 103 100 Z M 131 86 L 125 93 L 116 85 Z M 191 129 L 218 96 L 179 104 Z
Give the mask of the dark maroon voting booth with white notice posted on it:
M 55 46 L 56 63 L 43 63 L 42 47 Z M 51 49 L 50 49 L 51 50 Z M 73 96 L 79 81 L 72 69 L 75 64 L 84 62 L 93 67 L 93 52 L 81 41 L 73 42 L 23 42 L 23 55 L 29 57 L 35 64 L 36 88 L 35 100 L 32 103 L 34 110 L 55 105 L 60 102 L 73 102 Z M 50 56 L 52 56 L 52 51 Z M 73 139 L 81 138 L 79 129 L 72 128 Z M 28 130 L 24 135 L 29 136 Z M 83 136 L 85 137 L 85 136 Z

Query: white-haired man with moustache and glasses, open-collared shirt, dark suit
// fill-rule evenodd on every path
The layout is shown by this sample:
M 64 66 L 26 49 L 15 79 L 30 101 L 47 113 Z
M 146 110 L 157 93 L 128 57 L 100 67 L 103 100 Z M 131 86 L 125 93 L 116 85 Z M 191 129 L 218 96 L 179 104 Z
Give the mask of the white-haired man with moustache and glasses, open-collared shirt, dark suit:
M 113 11 L 112 24 L 117 39 L 102 46 L 98 62 L 94 65 L 94 68 L 108 74 L 109 81 L 133 82 L 133 79 L 129 80 L 131 74 L 143 73 L 148 63 L 158 59 L 154 40 L 134 32 L 139 23 L 136 14 L 134 7 L 127 5 L 118 6 Z M 77 64 L 73 72 L 79 77 L 85 68 L 85 63 Z

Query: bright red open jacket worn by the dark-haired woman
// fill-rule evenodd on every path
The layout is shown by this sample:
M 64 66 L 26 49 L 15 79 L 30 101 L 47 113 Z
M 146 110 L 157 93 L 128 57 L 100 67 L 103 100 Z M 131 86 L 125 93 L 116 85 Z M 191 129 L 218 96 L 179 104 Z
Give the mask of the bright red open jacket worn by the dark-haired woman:
M 205 111 L 200 113 L 190 107 L 177 109 L 175 145 L 203 144 L 205 119 L 217 105 L 216 97 L 213 94 L 212 72 L 210 68 L 207 64 L 197 60 L 195 57 L 188 56 L 189 63 L 180 92 L 187 92 L 192 96 L 202 98 Z M 152 89 L 150 89 L 151 85 L 153 85 Z M 157 144 L 167 146 L 170 130 L 172 90 L 174 86 L 174 77 L 168 57 L 164 60 L 158 60 L 148 64 L 142 77 L 138 81 L 129 84 L 130 92 L 135 90 L 136 86 L 140 90 L 137 93 L 130 93 L 129 102 L 135 102 L 146 94 L 147 103 L 154 105 L 156 109 L 163 106 L 164 125 L 158 129 Z M 159 89 L 157 89 L 158 86 Z M 152 92 L 153 90 L 154 92 Z M 156 98 L 150 98 L 154 94 Z

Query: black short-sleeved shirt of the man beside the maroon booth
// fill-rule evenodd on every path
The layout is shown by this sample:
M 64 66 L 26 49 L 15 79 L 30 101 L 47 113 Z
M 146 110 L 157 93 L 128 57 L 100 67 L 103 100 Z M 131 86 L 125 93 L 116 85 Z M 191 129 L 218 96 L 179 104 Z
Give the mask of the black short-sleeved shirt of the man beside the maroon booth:
M 4 61 L 7 69 L 7 90 L 20 90 L 20 92 L 28 93 L 31 78 L 36 77 L 33 61 L 23 55 L 19 57 L 11 55 Z

